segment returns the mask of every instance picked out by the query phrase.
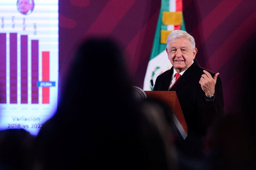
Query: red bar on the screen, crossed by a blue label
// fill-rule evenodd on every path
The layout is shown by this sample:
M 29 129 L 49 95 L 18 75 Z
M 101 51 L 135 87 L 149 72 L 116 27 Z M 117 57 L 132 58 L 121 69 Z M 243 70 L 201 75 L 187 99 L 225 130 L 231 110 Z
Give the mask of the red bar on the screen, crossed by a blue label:
M 50 81 L 50 52 L 43 51 L 42 52 L 42 80 L 43 81 Z M 43 104 L 50 103 L 50 87 L 42 87 L 42 97 L 43 97 Z

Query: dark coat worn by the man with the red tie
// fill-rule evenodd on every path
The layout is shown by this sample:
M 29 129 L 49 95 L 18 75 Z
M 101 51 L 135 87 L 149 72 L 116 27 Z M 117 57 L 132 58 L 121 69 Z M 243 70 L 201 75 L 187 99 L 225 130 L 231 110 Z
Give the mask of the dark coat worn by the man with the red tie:
M 177 147 L 190 157 L 203 156 L 202 138 L 212 121 L 223 114 L 223 92 L 220 77 L 215 85 L 214 101 L 207 101 L 199 80 L 204 74 L 196 60 L 173 85 L 171 91 L 176 91 L 180 106 L 188 125 L 188 136 L 185 140 L 177 140 Z M 212 77 L 215 73 L 211 73 Z M 155 91 L 167 91 L 171 82 L 173 67 L 156 78 Z

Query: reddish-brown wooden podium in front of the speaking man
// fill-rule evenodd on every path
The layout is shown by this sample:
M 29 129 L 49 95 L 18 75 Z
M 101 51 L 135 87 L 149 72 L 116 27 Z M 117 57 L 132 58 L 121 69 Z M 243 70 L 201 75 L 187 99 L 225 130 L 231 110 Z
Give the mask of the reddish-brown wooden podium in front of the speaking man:
M 148 98 L 156 98 L 165 102 L 173 113 L 173 122 L 185 140 L 188 136 L 188 126 L 180 107 L 180 102 L 175 91 L 144 91 Z

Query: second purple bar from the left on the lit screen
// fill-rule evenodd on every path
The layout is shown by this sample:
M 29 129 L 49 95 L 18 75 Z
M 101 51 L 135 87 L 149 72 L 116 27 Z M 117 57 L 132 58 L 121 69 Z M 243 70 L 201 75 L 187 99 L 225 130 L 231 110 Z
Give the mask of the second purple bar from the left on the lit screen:
M 17 103 L 17 33 L 10 33 L 10 103 Z

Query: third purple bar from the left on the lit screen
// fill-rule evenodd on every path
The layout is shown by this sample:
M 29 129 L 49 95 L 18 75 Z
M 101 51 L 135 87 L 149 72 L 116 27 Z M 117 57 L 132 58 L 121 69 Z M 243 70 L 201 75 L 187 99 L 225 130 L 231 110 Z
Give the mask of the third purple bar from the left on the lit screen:
M 21 104 L 28 103 L 28 35 L 20 35 Z

